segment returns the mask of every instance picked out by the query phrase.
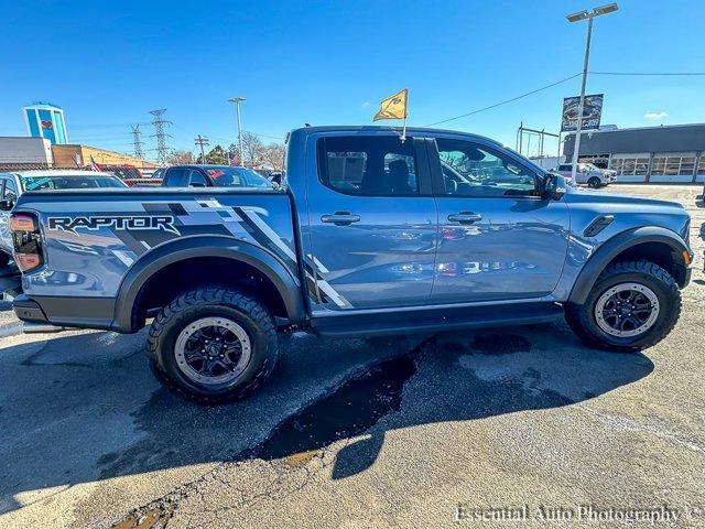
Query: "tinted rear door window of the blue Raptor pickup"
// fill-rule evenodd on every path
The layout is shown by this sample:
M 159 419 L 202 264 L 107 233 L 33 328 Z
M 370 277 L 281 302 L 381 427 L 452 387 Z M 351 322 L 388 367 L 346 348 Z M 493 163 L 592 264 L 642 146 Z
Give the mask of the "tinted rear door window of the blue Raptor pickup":
M 419 194 L 413 141 L 399 137 L 329 137 L 318 140 L 318 177 L 338 193 L 360 196 Z

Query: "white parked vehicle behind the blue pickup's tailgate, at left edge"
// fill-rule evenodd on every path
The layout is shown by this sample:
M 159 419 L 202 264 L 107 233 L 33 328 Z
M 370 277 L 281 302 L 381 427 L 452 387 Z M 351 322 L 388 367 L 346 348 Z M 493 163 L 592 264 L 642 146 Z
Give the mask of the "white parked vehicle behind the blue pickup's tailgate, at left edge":
M 17 171 L 0 173 L 0 267 L 12 258 L 12 235 L 8 226 L 10 212 L 25 191 L 93 190 L 126 187 L 108 173 L 94 171 Z

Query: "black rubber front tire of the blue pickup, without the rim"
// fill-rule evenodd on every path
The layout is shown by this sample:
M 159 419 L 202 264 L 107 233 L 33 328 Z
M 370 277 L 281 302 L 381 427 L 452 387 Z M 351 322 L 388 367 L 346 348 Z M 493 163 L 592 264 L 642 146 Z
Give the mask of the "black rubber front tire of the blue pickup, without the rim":
M 659 315 L 653 325 L 632 337 L 617 337 L 604 332 L 595 319 L 595 304 L 614 285 L 640 283 L 655 293 Z M 681 292 L 675 280 L 660 266 L 646 260 L 616 262 L 599 274 L 585 303 L 567 304 L 565 320 L 587 345 L 617 352 L 639 352 L 661 342 L 675 326 L 681 315 Z

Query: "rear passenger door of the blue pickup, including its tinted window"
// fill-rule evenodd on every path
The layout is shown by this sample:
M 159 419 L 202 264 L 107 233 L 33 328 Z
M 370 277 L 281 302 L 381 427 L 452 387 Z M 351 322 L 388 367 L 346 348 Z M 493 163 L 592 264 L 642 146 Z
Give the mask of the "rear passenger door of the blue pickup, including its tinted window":
M 390 131 L 310 141 L 304 238 L 314 312 L 427 303 L 437 214 L 424 140 Z

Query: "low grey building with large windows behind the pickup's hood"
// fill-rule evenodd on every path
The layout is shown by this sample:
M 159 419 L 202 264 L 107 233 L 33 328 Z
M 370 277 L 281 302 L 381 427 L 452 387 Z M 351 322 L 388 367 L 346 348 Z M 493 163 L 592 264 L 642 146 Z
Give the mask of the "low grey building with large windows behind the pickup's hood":
M 571 133 L 566 160 L 574 144 Z M 705 182 L 705 123 L 583 132 L 578 160 L 614 169 L 617 182 Z

